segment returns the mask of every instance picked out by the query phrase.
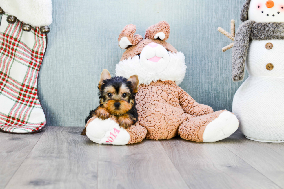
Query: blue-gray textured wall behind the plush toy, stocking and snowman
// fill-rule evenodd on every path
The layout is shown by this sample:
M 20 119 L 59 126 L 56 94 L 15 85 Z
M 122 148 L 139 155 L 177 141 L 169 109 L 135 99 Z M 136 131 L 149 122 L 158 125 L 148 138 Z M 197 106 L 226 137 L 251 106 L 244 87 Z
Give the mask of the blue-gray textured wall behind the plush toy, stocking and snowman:
M 240 25 L 244 0 L 54 0 L 48 47 L 39 73 L 39 96 L 48 126 L 84 126 L 98 106 L 97 83 L 103 69 L 112 75 L 124 50 L 118 36 L 127 24 L 136 34 L 161 20 L 170 24 L 171 43 L 185 55 L 181 87 L 214 111 L 232 111 L 241 82 L 231 80 L 230 20 Z

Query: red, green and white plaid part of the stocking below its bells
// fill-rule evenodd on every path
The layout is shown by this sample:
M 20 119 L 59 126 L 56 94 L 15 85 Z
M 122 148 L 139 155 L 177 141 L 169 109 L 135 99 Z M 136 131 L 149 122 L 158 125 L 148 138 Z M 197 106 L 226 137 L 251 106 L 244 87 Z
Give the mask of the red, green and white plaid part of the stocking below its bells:
M 37 79 L 47 44 L 39 27 L 22 30 L 23 23 L 0 24 L 0 129 L 30 133 L 46 125 L 37 96 Z

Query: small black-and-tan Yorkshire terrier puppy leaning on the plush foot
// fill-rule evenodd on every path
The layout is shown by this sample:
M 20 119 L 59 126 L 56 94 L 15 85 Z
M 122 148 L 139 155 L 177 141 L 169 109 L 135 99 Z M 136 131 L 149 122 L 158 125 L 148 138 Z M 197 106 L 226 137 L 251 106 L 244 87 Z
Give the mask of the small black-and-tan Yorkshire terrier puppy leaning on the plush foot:
M 90 111 L 87 121 L 97 116 L 102 120 L 108 119 L 111 115 L 117 118 L 119 126 L 127 129 L 138 120 L 135 95 L 138 89 L 138 76 L 130 78 L 111 77 L 108 70 L 104 69 L 99 81 L 100 105 Z M 81 135 L 86 135 L 86 128 Z

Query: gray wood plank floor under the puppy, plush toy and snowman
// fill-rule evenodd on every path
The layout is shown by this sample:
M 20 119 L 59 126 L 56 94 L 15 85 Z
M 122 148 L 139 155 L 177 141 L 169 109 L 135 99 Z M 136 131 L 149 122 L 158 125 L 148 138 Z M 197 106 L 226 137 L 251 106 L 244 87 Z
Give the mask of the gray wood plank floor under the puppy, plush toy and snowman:
M 82 129 L 0 132 L 0 189 L 284 188 L 284 144 L 237 131 L 214 143 L 176 137 L 111 146 L 91 142 Z

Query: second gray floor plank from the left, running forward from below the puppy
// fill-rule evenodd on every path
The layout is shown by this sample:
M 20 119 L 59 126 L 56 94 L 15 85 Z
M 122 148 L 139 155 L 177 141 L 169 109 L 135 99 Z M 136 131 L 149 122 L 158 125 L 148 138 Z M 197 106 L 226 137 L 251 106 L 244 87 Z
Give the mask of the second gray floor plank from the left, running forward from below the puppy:
M 96 188 L 98 144 L 82 127 L 48 127 L 5 188 Z

